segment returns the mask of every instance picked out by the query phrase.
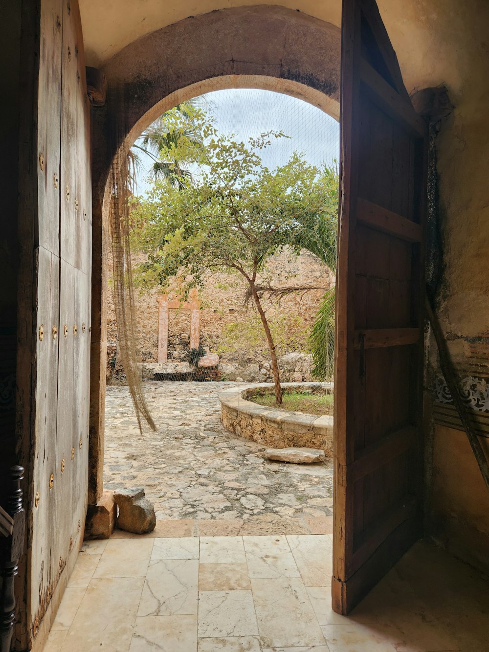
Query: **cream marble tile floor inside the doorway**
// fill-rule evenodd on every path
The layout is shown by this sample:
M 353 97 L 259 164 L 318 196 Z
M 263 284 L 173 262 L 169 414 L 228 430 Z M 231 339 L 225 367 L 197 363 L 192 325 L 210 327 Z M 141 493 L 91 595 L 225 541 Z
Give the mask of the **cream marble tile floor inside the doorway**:
M 348 617 L 331 535 L 83 544 L 44 652 L 486 652 L 489 581 L 418 542 Z

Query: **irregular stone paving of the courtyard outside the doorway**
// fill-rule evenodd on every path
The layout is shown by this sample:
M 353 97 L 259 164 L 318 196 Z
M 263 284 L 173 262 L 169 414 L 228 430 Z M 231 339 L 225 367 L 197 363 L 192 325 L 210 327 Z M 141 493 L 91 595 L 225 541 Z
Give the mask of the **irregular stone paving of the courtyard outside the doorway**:
M 268 522 L 275 531 L 288 522 L 298 532 L 331 522 L 331 460 L 269 462 L 265 447 L 224 430 L 218 396 L 238 385 L 146 382 L 158 430 L 143 434 L 128 388 L 107 387 L 105 488 L 144 487 L 158 520 Z

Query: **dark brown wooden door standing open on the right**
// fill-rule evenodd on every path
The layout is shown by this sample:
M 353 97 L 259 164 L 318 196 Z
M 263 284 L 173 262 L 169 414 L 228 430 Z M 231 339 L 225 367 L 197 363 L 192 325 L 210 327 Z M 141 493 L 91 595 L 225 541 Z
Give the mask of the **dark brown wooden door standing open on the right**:
M 422 533 L 427 127 L 374 0 L 344 0 L 336 287 L 333 609 Z

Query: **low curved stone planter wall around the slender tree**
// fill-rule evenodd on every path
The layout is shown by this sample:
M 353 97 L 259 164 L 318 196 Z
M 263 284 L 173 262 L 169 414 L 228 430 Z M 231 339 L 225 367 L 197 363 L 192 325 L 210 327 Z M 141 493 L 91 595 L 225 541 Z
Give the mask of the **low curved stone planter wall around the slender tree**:
M 333 417 L 259 406 L 250 400 L 271 383 L 233 387 L 220 394 L 221 421 L 226 430 L 272 448 L 315 448 L 333 457 Z M 282 383 L 282 389 L 333 391 L 333 383 Z

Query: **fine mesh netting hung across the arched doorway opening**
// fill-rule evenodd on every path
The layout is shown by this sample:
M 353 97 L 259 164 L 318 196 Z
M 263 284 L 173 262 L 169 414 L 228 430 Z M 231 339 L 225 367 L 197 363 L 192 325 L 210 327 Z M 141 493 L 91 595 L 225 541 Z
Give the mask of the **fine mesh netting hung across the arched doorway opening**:
M 266 382 L 278 403 L 281 382 L 333 379 L 336 108 L 200 91 L 175 95 L 129 154 L 136 357 L 143 379 Z

